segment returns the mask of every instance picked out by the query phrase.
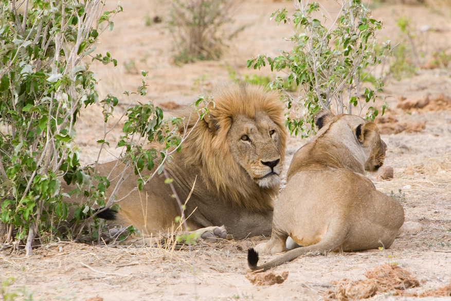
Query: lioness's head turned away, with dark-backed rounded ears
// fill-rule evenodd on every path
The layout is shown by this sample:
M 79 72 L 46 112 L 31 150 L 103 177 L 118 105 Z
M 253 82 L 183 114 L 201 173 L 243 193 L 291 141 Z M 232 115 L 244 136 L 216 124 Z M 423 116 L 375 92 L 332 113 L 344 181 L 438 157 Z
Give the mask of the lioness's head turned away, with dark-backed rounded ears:
M 366 171 L 376 171 L 384 164 L 387 145 L 381 139 L 374 122 L 356 115 L 334 116 L 331 111 L 321 110 L 315 115 L 315 125 L 319 129 L 318 135 L 334 130 L 337 131 L 333 133 L 335 136 L 346 135 L 345 129 L 350 129 L 355 142 L 363 149 L 362 160 L 365 162 Z M 354 153 L 358 152 L 354 151 Z

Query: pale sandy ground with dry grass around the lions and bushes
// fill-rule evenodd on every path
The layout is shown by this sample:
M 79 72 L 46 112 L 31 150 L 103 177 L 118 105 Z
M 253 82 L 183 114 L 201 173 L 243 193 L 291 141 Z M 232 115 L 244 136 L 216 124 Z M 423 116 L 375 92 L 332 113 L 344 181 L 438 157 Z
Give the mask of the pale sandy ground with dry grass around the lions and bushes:
M 147 16 L 159 15 L 165 20 L 167 7 L 157 1 L 129 0 L 121 4 L 124 13 L 117 16 L 114 30 L 102 37 L 97 48 L 101 53 L 110 51 L 118 59 L 118 67 L 99 64 L 92 67 L 101 79 L 101 96 L 136 90 L 141 80 L 137 70 L 146 69 L 149 70 L 149 93 L 140 101 L 185 104 L 227 80 L 228 68 L 238 74 L 254 73 L 245 68 L 247 59 L 263 53 L 274 56 L 273 49 L 290 47 L 281 39 L 287 37 L 290 30 L 269 21 L 272 11 L 290 4 L 246 1 L 236 14 L 234 26 L 248 26 L 233 40 L 222 60 L 175 66 L 171 59 L 170 35 L 164 23 L 145 25 Z M 427 43 L 421 43 L 421 47 L 428 48 L 424 50 L 426 55 L 451 48 L 451 14 L 436 6 L 375 6 L 375 19 L 384 19 L 385 24 L 378 37 L 399 39 L 401 33 L 395 23 L 402 14 L 412 18 L 415 28 L 430 25 L 437 29 L 422 36 L 422 39 L 427 38 Z M 124 62 L 131 60 L 136 70 L 124 67 Z M 427 56 L 422 60 L 426 63 Z M 269 70 L 262 70 L 260 74 L 269 74 Z M 451 70 L 422 69 L 412 78 L 391 81 L 385 93 L 390 104 L 387 116 L 392 119 L 378 125 L 386 128 L 387 134 L 382 135 L 388 146 L 385 165 L 394 168 L 394 178 L 384 181 L 377 180 L 375 175 L 369 177 L 387 194 L 390 191 L 398 194 L 401 188 L 405 193 L 401 202 L 406 220 L 423 226 L 418 233 L 397 238 L 388 250 L 305 256 L 275 269 L 289 272 L 282 284 L 254 286 L 245 277 L 247 249 L 263 241 L 263 237 L 201 243 L 191 254 L 186 249 L 111 248 L 60 242 L 39 247 L 30 258 L 8 250 L 0 252 L 0 280 L 15 278 L 6 290 L 25 288 L 26 292 L 33 293 L 34 300 L 319 300 L 334 289 L 332 281 L 364 279 L 365 271 L 388 262 L 399 264 L 421 281 L 421 287 L 411 289 L 413 291 L 446 285 L 451 281 L 451 100 L 442 106 L 435 101 L 441 99 L 441 94 L 451 95 Z M 429 103 L 422 109 L 400 108 L 400 103 L 405 101 L 426 98 Z M 120 101 L 128 100 L 121 97 Z M 117 113 L 124 108 L 125 105 L 121 105 Z M 81 161 L 85 164 L 97 158 L 95 141 L 101 139 L 103 133 L 100 112 L 100 107 L 94 106 L 84 110 L 80 118 L 78 144 L 82 150 Z M 396 133 L 393 129 L 403 131 Z M 119 135 L 120 131 L 112 132 L 109 137 L 112 145 Z M 288 141 L 286 162 L 291 161 L 294 152 L 304 143 L 296 137 Z M 118 150 L 110 152 L 102 153 L 100 161 L 112 160 Z M 273 256 L 262 256 L 261 260 Z M 416 298 L 385 293 L 371 299 Z M 451 297 L 443 299 L 451 300 Z

